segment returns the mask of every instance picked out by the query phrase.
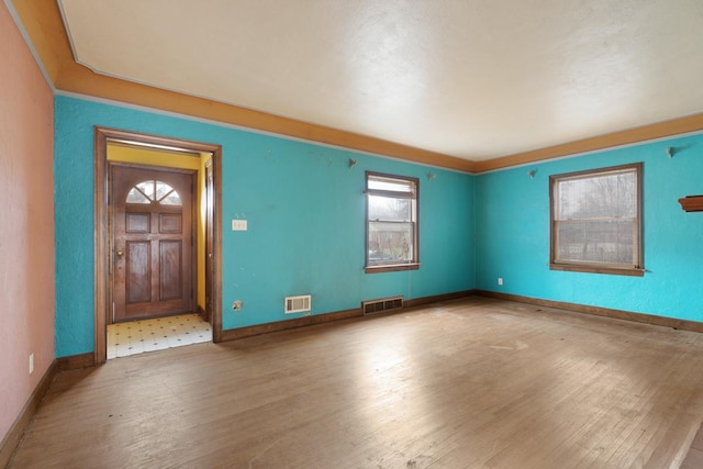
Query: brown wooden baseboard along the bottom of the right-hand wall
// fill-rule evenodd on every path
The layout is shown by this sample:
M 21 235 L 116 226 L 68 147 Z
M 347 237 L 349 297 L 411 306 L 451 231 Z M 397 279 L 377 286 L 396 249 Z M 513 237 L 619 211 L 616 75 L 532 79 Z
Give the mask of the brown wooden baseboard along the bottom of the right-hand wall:
M 481 297 L 495 298 L 498 300 L 515 301 L 517 303 L 535 304 L 537 306 L 555 308 L 559 310 L 573 311 L 577 313 L 593 314 L 595 316 L 605 316 L 615 320 L 634 321 L 637 323 L 651 324 L 656 326 L 665 326 L 681 331 L 703 333 L 703 323 L 699 323 L 695 321 L 677 320 L 673 317 L 655 316 L 651 314 L 611 310 L 609 308 L 589 306 L 585 304 L 566 303 L 562 301 L 540 300 L 538 298 L 522 297 L 518 294 L 510 293 L 499 293 L 488 290 L 476 290 L 476 294 Z

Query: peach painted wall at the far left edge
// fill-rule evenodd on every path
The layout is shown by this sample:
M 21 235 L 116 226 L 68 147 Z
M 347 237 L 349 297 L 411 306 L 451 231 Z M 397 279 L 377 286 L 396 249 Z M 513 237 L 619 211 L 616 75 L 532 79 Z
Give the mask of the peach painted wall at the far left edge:
M 0 440 L 54 360 L 54 94 L 0 2 Z

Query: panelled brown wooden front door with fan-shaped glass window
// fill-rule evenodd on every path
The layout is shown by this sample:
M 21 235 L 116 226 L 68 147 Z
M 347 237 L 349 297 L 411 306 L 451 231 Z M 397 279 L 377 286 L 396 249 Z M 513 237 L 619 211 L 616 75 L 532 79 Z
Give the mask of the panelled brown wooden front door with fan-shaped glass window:
M 112 322 L 192 312 L 194 174 L 111 168 Z

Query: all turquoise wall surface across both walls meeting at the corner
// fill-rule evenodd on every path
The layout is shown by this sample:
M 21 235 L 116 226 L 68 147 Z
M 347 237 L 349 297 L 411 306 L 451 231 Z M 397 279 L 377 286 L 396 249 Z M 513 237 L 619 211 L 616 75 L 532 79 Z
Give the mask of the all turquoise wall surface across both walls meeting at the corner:
M 223 146 L 225 328 L 299 317 L 283 314 L 287 295 L 312 294 L 321 314 L 472 288 L 703 322 L 703 213 L 677 202 L 703 193 L 703 135 L 472 177 L 75 98 L 55 107 L 57 357 L 93 349 L 94 125 Z M 636 161 L 645 276 L 549 270 L 549 176 Z M 364 273 L 365 170 L 420 178 L 420 270 Z M 248 231 L 230 231 L 232 219 Z

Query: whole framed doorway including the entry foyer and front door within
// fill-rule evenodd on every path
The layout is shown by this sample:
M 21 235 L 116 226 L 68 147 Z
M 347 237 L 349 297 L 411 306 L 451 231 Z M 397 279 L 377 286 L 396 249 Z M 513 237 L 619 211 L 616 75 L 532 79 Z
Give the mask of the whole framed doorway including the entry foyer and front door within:
M 94 362 L 220 342 L 221 146 L 96 127 L 94 163 Z

